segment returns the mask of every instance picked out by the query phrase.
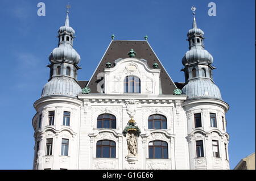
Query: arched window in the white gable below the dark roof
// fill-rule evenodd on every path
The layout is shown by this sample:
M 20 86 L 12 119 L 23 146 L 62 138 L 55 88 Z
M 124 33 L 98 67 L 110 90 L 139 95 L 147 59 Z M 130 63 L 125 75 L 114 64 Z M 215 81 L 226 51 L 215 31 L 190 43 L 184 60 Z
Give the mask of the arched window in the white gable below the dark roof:
M 141 93 L 141 80 L 138 77 L 127 76 L 123 87 L 125 93 Z

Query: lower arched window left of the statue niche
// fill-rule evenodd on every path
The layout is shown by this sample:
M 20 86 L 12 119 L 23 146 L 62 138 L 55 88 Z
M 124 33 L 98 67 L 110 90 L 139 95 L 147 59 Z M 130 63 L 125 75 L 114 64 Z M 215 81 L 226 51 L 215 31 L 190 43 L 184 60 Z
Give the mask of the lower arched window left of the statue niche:
M 97 141 L 96 158 L 115 158 L 115 142 L 110 140 Z

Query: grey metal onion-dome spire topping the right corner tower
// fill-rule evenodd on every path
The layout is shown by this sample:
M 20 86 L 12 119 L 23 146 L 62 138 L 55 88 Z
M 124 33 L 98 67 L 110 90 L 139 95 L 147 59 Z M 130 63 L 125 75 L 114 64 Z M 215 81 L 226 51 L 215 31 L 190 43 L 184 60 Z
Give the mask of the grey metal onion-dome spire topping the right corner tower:
M 204 32 L 197 28 L 195 11 L 193 11 L 192 29 L 187 33 L 189 50 L 182 58 L 182 69 L 185 73 L 186 85 L 183 93 L 188 99 L 193 98 L 216 98 L 221 99 L 220 90 L 213 82 L 212 66 L 213 57 L 204 49 Z

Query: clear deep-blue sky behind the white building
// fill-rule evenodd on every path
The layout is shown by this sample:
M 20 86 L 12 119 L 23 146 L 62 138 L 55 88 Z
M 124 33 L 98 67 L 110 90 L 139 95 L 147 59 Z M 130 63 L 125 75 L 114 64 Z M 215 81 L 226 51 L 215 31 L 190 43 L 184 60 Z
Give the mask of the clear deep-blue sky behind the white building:
M 57 46 L 57 30 L 71 4 L 74 47 L 81 56 L 79 80 L 88 80 L 110 36 L 143 40 L 155 50 L 175 82 L 183 82 L 181 58 L 188 50 L 195 5 L 197 26 L 205 32 L 205 49 L 214 58 L 213 78 L 230 106 L 226 114 L 230 134 L 230 168 L 255 151 L 255 1 L 42 1 L 46 16 L 38 16 L 40 1 L 2 0 L 0 169 L 32 169 L 35 100 L 49 77 L 48 55 Z M 215 2 L 217 16 L 208 16 Z

